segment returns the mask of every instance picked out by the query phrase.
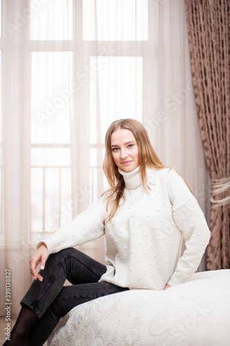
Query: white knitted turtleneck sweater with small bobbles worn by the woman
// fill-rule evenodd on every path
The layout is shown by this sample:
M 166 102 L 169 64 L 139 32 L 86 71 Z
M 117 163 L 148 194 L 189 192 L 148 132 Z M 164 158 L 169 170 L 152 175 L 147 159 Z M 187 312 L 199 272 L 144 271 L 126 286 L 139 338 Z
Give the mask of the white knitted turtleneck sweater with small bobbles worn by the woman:
M 43 240 L 48 253 L 105 234 L 107 271 L 100 282 L 154 290 L 185 282 L 198 268 L 210 238 L 198 202 L 175 170 L 147 168 L 149 193 L 144 191 L 140 167 L 119 172 L 126 188 L 115 217 L 105 225 L 108 212 L 101 197 Z M 180 257 L 183 237 L 186 249 Z

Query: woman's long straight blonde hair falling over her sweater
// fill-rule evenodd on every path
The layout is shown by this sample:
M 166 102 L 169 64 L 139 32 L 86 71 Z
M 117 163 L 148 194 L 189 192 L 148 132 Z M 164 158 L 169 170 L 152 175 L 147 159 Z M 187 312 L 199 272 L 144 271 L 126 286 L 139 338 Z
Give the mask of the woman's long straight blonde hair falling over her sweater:
M 108 179 L 108 183 L 111 189 L 108 190 L 107 197 L 107 210 L 108 205 L 113 202 L 111 212 L 108 215 L 109 221 L 114 217 L 119 208 L 119 201 L 124 198 L 124 178 L 122 174 L 119 173 L 117 165 L 113 161 L 112 151 L 111 151 L 111 135 L 117 129 L 128 129 L 133 133 L 135 137 L 137 147 L 138 147 L 138 162 L 140 166 L 140 174 L 142 176 L 142 184 L 144 190 L 148 192 L 150 190 L 147 183 L 146 166 L 154 168 L 155 170 L 162 170 L 166 166 L 160 161 L 157 154 L 155 153 L 153 146 L 148 138 L 148 134 L 144 126 L 137 120 L 134 119 L 121 119 L 115 120 L 111 126 L 108 128 L 106 133 L 106 154 L 104 157 L 103 169 Z M 171 168 L 171 167 L 170 167 Z

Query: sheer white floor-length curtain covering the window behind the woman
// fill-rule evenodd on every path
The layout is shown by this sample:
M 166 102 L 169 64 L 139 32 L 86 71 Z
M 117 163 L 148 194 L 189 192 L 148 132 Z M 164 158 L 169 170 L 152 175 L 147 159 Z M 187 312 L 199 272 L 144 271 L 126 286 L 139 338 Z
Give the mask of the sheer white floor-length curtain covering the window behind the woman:
M 204 212 L 209 177 L 183 0 L 4 0 L 0 44 L 1 315 L 8 268 L 13 317 L 32 280 L 35 244 L 107 188 L 104 136 L 113 120 L 146 126 Z M 104 261 L 104 239 L 80 249 Z

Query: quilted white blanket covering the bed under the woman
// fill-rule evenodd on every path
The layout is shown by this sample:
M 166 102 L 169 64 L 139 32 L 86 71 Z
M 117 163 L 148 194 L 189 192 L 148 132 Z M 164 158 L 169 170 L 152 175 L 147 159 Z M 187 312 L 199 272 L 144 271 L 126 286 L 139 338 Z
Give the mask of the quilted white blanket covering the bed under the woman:
M 229 346 L 230 269 L 166 291 L 106 295 L 72 309 L 49 346 Z

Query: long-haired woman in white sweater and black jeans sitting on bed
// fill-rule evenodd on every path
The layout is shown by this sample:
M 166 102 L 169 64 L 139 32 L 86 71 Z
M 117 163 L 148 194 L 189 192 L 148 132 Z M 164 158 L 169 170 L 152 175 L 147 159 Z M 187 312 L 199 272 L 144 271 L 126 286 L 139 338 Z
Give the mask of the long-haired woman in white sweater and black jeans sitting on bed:
M 30 260 L 35 280 L 4 345 L 43 345 L 77 304 L 128 289 L 168 289 L 198 268 L 210 237 L 207 222 L 184 179 L 162 165 L 140 122 L 117 120 L 109 127 L 104 172 L 111 189 L 37 245 Z M 104 234 L 106 266 L 72 248 Z M 66 279 L 73 286 L 63 287 Z

